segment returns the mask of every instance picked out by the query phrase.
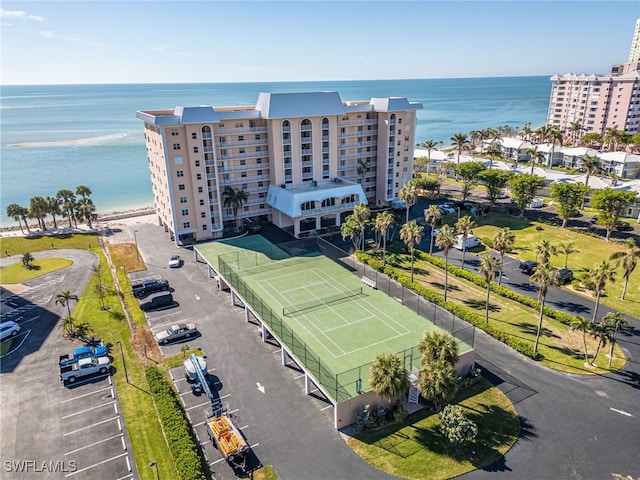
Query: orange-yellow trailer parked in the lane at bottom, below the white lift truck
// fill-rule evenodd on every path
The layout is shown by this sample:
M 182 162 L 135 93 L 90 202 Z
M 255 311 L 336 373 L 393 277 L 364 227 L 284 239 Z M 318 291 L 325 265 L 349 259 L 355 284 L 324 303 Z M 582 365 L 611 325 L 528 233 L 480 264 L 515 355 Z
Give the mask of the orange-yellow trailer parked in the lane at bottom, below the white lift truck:
M 221 404 L 206 410 L 205 423 L 211 443 L 222 453 L 227 463 L 235 468 L 246 468 L 249 445 L 242 432 L 233 423 L 227 409 Z

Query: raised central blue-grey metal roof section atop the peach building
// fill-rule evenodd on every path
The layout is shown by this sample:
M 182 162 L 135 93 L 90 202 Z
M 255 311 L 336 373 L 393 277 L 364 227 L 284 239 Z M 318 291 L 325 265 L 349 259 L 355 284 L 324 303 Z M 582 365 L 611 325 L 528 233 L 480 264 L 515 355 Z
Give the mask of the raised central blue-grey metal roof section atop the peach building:
M 256 110 L 263 118 L 317 117 L 345 113 L 338 92 L 261 93 Z

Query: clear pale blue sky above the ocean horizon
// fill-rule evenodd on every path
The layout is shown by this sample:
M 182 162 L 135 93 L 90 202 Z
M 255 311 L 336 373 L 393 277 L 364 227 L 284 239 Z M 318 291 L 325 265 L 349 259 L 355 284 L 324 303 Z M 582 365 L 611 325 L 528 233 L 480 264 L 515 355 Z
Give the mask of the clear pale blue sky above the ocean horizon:
M 3 85 L 607 73 L 640 1 L 2 1 Z

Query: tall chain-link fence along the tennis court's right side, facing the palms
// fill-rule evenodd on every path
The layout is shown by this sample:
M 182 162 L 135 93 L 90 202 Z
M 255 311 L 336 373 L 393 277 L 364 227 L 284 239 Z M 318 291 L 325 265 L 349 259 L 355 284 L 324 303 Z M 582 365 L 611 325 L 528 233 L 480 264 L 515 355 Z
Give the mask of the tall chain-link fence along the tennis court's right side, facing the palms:
M 355 255 L 351 255 L 324 238 L 318 237 L 317 241 L 318 248 L 323 255 L 347 268 L 354 275 L 372 280 L 378 290 L 386 293 L 442 330 L 449 332 L 454 338 L 471 345 L 471 347 L 474 346 L 475 326 L 469 325 L 453 313 L 428 301 L 413 290 L 393 280 L 390 276 L 363 264 Z

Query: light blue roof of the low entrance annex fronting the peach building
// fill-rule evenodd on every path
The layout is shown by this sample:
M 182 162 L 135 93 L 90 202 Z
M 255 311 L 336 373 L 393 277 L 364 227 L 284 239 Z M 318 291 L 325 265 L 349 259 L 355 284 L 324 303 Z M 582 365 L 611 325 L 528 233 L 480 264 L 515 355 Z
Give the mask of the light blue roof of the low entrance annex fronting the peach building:
M 315 201 L 320 204 L 323 200 L 330 198 L 340 199 L 351 195 L 355 195 L 360 203 L 367 203 L 367 196 L 362 189 L 362 185 L 347 180 L 316 182 L 287 188 L 271 184 L 267 192 L 267 205 L 290 218 L 299 218 L 307 213 L 317 214 L 317 212 L 303 212 L 300 207 L 305 202 Z M 320 208 L 320 205 L 318 205 L 318 208 Z M 339 209 L 340 204 L 336 204 L 334 213 Z M 352 205 L 349 206 L 349 209 L 352 209 Z

